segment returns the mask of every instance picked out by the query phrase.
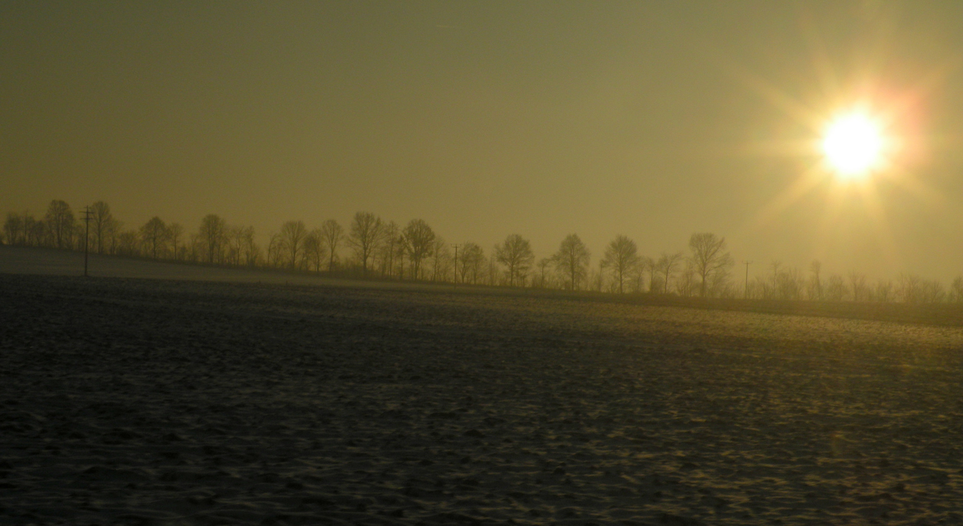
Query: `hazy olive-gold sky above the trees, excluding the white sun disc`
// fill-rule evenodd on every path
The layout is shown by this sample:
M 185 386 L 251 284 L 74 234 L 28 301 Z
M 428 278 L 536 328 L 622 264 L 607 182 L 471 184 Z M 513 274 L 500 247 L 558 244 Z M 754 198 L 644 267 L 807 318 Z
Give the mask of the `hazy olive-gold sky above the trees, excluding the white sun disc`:
M 963 2 L 0 3 L 0 212 L 963 272 Z M 905 139 L 846 187 L 822 122 Z M 803 184 L 803 182 L 807 182 Z M 801 186 L 800 186 L 801 185 Z M 794 191 L 793 189 L 796 189 Z M 801 190 L 800 190 L 801 189 Z M 739 270 L 742 272 L 742 270 Z

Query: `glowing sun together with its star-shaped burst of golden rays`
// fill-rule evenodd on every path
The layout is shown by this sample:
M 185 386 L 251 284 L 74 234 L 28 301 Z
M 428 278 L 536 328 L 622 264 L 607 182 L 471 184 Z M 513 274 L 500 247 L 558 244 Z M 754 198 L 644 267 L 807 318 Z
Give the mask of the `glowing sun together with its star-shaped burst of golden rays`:
M 835 239 L 846 217 L 863 217 L 875 231 L 883 252 L 880 257 L 893 260 L 898 250 L 888 218 L 898 206 L 895 199 L 910 195 L 934 209 L 944 207 L 944 200 L 922 175 L 923 152 L 935 144 L 923 131 L 923 102 L 959 64 L 958 57 L 923 75 L 896 74 L 905 72 L 894 72 L 888 61 L 893 51 L 881 34 L 866 45 L 861 66 L 852 67 L 860 64 L 854 60 L 846 67 L 838 57 L 830 59 L 816 25 L 807 23 L 805 16 L 800 18 L 811 54 L 808 90 L 786 90 L 752 71 L 732 69 L 738 71 L 735 76 L 744 87 L 797 130 L 795 136 L 746 145 L 750 155 L 785 161 L 775 176 L 783 176 L 788 166 L 795 172 L 747 226 L 758 231 L 779 224 L 805 200 L 820 206 L 819 219 L 813 224 L 816 239 Z M 887 22 L 881 25 L 892 29 L 892 20 Z M 908 85 L 894 80 L 914 77 L 918 80 Z

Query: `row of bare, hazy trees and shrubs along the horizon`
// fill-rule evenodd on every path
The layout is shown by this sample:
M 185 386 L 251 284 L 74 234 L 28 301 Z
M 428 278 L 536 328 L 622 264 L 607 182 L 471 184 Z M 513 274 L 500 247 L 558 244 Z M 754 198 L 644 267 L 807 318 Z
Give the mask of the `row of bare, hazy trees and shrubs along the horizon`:
M 207 263 L 237 267 L 287 269 L 310 273 L 411 279 L 514 287 L 657 293 L 683 297 L 750 298 L 854 302 L 963 302 L 963 277 L 950 287 L 920 276 L 871 283 L 865 275 L 822 276 L 813 261 L 808 274 L 773 261 L 765 275 L 742 281 L 724 237 L 710 232 L 690 236 L 686 251 L 639 253 L 635 241 L 617 235 L 597 264 L 577 234 L 561 240 L 558 250 L 536 260 L 531 243 L 520 234 L 484 250 L 473 242 L 451 244 L 425 221 L 385 221 L 357 212 L 348 228 L 331 219 L 309 228 L 287 221 L 269 236 L 255 240 L 254 227 L 228 224 L 216 214 L 204 216 L 193 232 L 153 217 L 125 228 L 104 201 L 91 205 L 89 225 L 64 200 L 54 199 L 42 218 L 29 212 L 7 215 L 0 243 L 89 250 L 101 254 Z M 87 226 L 90 234 L 85 237 Z M 741 282 L 742 281 L 742 282 Z

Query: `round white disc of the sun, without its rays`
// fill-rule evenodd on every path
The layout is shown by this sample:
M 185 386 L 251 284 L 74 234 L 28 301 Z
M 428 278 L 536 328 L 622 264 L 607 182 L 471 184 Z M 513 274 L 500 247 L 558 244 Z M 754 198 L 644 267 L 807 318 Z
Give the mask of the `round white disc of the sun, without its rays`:
M 843 179 L 861 179 L 880 168 L 885 146 L 882 126 L 861 111 L 833 118 L 822 136 L 826 162 Z

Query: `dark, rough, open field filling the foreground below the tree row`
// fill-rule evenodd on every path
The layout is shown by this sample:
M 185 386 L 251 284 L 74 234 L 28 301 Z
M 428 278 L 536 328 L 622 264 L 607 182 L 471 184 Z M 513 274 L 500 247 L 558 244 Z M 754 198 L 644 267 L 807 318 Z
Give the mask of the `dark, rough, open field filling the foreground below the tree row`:
M 3 524 L 957 524 L 963 329 L 0 275 Z

